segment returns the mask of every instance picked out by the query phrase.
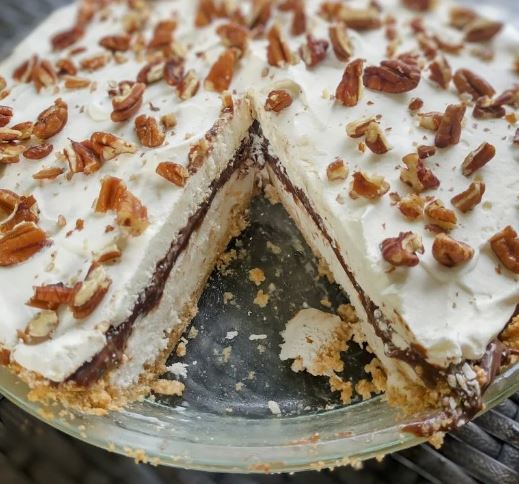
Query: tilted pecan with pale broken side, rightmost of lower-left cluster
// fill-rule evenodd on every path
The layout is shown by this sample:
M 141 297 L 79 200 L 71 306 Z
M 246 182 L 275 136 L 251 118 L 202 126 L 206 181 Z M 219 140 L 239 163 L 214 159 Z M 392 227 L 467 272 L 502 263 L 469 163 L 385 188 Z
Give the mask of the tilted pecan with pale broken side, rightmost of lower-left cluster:
M 70 310 L 75 319 L 85 319 L 90 316 L 105 297 L 112 280 L 106 274 L 102 265 L 94 265 L 85 280 L 75 288 Z

